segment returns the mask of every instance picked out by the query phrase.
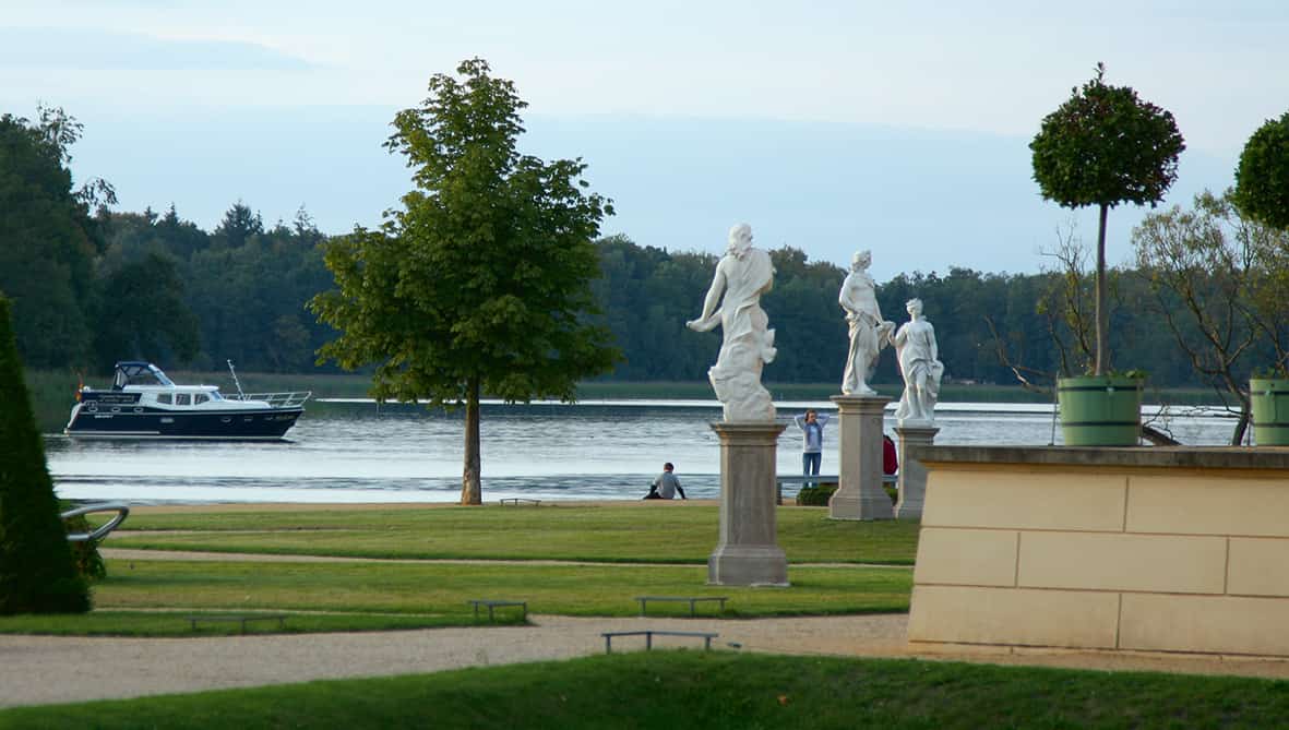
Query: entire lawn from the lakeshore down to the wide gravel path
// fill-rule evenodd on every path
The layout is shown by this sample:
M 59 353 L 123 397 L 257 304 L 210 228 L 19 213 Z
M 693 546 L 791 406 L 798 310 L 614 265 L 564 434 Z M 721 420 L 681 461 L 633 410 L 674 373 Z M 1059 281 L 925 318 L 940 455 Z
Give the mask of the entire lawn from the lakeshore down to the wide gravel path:
M 791 586 L 745 588 L 706 584 L 717 520 L 715 507 L 682 503 L 143 508 L 130 515 L 130 530 L 117 530 L 103 547 L 147 548 L 157 558 L 108 553 L 107 578 L 94 584 L 94 613 L 3 617 L 0 633 L 191 636 L 184 617 L 200 611 L 287 613 L 286 632 L 470 626 L 473 598 L 523 600 L 534 613 L 576 617 L 635 615 L 634 598 L 643 595 L 727 596 L 727 618 L 909 610 L 915 524 L 780 509 Z M 165 560 L 174 549 L 398 560 Z M 864 556 L 892 566 L 853 564 Z M 656 615 L 687 610 L 651 607 Z M 276 622 L 251 626 L 280 631 Z

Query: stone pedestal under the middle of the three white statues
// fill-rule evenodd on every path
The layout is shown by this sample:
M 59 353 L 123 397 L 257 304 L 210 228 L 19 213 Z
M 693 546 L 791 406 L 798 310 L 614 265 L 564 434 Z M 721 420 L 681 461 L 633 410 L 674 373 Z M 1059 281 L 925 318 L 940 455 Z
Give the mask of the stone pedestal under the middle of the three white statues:
M 882 419 L 886 396 L 833 396 L 840 422 L 840 471 L 828 500 L 834 520 L 893 520 L 891 498 L 882 489 Z

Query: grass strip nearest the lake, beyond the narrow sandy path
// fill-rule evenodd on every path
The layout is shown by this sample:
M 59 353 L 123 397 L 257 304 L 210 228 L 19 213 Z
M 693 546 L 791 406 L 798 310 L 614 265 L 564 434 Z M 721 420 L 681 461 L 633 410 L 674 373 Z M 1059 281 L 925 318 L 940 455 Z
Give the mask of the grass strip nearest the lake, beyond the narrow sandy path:
M 705 565 L 718 507 L 706 504 L 184 508 L 139 511 L 107 547 L 345 557 L 579 560 Z M 916 522 L 830 520 L 822 507 L 779 509 L 789 562 L 913 565 Z M 186 534 L 171 534 L 180 530 Z

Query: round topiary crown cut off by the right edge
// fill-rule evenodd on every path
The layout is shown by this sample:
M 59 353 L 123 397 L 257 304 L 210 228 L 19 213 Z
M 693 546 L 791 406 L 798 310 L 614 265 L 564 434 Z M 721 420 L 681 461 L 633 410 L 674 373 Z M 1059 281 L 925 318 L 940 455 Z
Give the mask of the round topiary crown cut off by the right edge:
M 1234 197 L 1246 218 L 1289 231 L 1289 112 L 1268 119 L 1244 143 Z

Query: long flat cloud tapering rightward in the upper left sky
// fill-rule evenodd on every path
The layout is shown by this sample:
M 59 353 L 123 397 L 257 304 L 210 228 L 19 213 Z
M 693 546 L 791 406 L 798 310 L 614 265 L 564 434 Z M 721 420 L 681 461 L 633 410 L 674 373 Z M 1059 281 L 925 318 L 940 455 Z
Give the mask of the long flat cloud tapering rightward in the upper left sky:
M 85 28 L 0 28 L 0 68 L 305 71 L 302 58 L 235 40 L 173 40 Z

